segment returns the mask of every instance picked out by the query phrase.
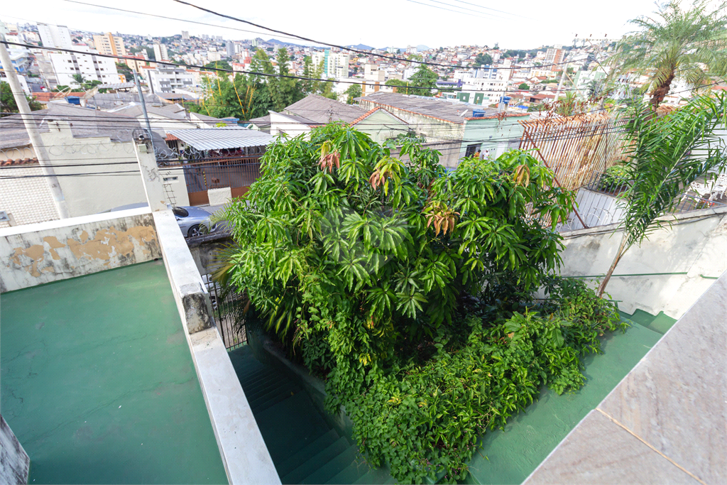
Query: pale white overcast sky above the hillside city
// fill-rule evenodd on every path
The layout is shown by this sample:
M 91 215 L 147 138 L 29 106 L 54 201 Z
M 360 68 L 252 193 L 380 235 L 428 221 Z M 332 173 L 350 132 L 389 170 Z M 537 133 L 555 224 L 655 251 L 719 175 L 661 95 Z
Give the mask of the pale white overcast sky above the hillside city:
M 173 0 L 85 0 L 89 4 L 117 7 L 133 13 L 92 7 L 68 0 L 7 0 L 0 20 L 7 23 L 45 22 L 71 30 L 171 36 L 222 35 L 225 39 L 286 39 L 234 20 L 201 12 Z M 491 0 L 300 0 L 203 1 L 188 0 L 216 12 L 332 44 L 366 44 L 373 47 L 426 45 L 488 45 L 507 49 L 534 49 L 542 45 L 572 44 L 574 37 L 619 37 L 632 30 L 628 21 L 654 12 L 652 0 L 491 1 Z M 497 12 L 499 10 L 499 12 Z M 196 25 L 180 20 L 148 17 L 142 13 L 211 23 Z M 245 29 L 251 32 L 238 31 Z

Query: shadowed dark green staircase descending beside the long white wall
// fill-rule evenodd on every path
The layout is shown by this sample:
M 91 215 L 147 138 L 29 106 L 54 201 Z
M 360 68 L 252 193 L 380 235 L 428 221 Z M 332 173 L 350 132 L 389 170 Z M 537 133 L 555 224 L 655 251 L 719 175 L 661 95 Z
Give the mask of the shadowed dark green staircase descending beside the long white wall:
M 371 468 L 350 436 L 326 424 L 300 385 L 254 358 L 248 346 L 230 360 L 284 484 L 393 484 Z

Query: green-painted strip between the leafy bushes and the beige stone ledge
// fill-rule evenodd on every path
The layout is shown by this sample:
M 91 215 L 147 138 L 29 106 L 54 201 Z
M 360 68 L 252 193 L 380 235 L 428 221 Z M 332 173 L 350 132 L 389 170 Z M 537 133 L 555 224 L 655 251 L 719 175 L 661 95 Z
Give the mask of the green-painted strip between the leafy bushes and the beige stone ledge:
M 653 316 L 643 310 L 621 316 L 630 328 L 609 334 L 602 340 L 603 353 L 584 359 L 586 384 L 561 396 L 545 389 L 504 431 L 486 433 L 465 483 L 520 484 L 675 323 L 663 313 Z

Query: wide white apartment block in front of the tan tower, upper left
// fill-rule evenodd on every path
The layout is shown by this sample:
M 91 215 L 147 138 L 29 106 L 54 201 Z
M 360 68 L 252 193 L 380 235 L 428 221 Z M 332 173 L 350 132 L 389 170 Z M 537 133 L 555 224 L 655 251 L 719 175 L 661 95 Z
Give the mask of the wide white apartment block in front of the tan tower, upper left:
M 101 81 L 103 84 L 117 84 L 121 82 L 119 72 L 116 71 L 116 63 L 109 57 L 99 57 L 95 49 L 87 46 L 74 46 L 76 50 L 88 52 L 88 54 L 76 54 L 73 52 L 53 52 L 50 54 L 50 61 L 55 73 L 57 84 L 64 86 L 76 86 L 78 83 L 73 75 L 81 74 L 86 81 Z

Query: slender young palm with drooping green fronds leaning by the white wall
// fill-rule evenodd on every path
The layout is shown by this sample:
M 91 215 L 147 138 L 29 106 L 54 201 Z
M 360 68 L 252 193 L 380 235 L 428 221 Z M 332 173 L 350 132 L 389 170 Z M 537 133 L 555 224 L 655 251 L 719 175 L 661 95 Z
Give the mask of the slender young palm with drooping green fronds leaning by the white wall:
M 659 217 L 672 212 L 688 185 L 727 164 L 727 144 L 718 134 L 727 127 L 727 95 L 697 96 L 664 116 L 654 116 L 651 105 L 637 95 L 622 116 L 627 124 L 621 167 L 628 183 L 620 195 L 623 235 L 599 296 L 625 252 L 668 224 Z

